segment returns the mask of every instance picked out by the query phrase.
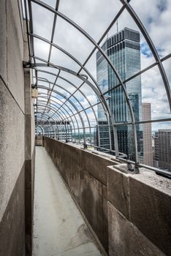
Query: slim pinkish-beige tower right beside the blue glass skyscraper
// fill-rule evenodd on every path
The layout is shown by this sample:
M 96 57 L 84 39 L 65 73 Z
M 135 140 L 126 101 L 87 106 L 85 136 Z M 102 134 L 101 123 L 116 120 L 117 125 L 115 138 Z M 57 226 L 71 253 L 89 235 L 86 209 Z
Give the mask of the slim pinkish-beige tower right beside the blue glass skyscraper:
M 142 102 L 142 121 L 148 121 L 148 120 L 151 120 L 151 103 Z M 142 163 L 144 165 L 153 166 L 151 123 L 144 123 L 142 125 L 142 138 L 143 138 Z

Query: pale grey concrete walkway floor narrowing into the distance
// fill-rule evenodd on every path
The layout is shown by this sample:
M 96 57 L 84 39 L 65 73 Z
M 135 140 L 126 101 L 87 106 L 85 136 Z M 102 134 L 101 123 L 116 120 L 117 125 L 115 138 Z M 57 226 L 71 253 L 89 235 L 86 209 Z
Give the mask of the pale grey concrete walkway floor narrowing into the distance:
M 36 148 L 34 256 L 101 255 L 45 148 Z

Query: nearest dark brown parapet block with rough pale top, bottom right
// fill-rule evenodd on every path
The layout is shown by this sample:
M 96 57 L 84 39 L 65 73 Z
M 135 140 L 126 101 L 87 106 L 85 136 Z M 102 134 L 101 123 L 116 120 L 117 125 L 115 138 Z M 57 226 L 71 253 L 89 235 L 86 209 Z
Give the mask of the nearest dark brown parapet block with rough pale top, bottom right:
M 147 171 L 130 177 L 129 187 L 131 221 L 171 255 L 171 181 Z

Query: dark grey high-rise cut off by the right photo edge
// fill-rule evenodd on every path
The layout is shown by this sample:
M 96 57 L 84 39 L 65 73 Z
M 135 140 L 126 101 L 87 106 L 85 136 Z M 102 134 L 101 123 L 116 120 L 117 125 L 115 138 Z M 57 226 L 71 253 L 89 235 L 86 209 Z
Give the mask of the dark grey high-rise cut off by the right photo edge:
M 156 167 L 171 170 L 171 129 L 159 129 L 154 141 Z

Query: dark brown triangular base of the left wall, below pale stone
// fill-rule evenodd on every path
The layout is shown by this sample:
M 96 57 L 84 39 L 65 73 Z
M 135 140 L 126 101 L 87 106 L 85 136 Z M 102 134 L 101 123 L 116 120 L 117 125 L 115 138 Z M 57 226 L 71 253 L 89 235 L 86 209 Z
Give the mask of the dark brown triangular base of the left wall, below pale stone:
M 24 165 L 0 222 L 0 255 L 25 254 Z

